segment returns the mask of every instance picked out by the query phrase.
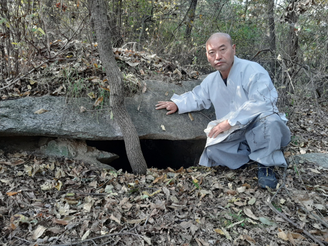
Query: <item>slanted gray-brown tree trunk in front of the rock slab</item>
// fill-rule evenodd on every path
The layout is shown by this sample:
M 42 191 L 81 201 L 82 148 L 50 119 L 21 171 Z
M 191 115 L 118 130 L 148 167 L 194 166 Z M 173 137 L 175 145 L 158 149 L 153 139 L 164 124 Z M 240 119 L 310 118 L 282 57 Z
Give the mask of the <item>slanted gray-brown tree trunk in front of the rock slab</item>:
M 138 134 L 124 105 L 124 80 L 113 55 L 105 1 L 91 0 L 91 14 L 95 22 L 100 60 L 110 84 L 110 104 L 114 118 L 122 131 L 133 173 L 145 174 L 147 164 L 141 152 Z

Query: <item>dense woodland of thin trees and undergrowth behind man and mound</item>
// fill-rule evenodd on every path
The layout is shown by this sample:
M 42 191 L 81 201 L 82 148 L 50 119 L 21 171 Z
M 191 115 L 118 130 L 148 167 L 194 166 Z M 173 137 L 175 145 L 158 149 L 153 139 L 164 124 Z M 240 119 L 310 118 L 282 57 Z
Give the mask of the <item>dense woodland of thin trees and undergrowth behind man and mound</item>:
M 0 87 L 39 65 L 69 60 L 70 56 L 63 56 L 67 46 L 51 49 L 58 39 L 96 43 L 95 28 L 101 27 L 91 18 L 91 4 L 83 0 L 2 0 Z M 226 32 L 236 44 L 238 57 L 257 61 L 269 71 L 279 90 L 280 108 L 295 105 L 300 95 L 303 101 L 325 94 L 326 1 L 112 0 L 106 4 L 114 48 L 154 53 L 190 70 L 209 73 L 204 43 L 212 33 Z M 5 89 L 14 91 L 15 87 Z

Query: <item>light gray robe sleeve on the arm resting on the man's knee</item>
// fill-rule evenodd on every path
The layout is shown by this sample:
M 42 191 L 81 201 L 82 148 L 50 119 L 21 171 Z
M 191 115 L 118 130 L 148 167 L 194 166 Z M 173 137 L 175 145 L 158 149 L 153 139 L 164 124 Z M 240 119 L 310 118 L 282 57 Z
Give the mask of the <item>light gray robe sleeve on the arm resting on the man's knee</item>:
M 238 122 L 241 125 L 247 125 L 262 112 L 277 111 L 278 93 L 269 74 L 254 72 L 248 81 L 242 81 L 242 87 L 248 93 L 249 100 L 229 117 L 228 122 L 231 126 L 235 126 Z

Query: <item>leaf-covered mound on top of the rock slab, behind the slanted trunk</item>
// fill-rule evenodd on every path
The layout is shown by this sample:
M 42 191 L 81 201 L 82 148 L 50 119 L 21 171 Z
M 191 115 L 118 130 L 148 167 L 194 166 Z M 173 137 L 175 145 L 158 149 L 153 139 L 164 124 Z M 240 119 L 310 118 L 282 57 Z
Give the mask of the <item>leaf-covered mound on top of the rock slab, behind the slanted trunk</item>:
M 65 42 L 56 40 L 50 44 L 50 52 L 63 50 L 54 60 L 36 69 L 28 77 L 0 91 L 0 100 L 25 96 L 89 96 L 95 101 L 110 91 L 105 69 L 101 65 L 97 43 L 78 40 Z M 27 73 L 42 64 L 48 50 L 41 50 L 33 56 L 31 63 L 20 59 L 22 73 Z M 143 80 L 155 79 L 179 84 L 181 80 L 198 78 L 199 73 L 192 67 L 181 67 L 156 54 L 128 49 L 113 49 L 113 55 L 125 81 L 126 96 L 132 96 L 145 89 Z M 14 65 L 12 65 L 14 66 Z M 13 78 L 0 81 L 0 88 L 11 84 Z M 147 87 L 147 86 L 146 86 Z M 105 95 L 104 95 L 105 94 Z

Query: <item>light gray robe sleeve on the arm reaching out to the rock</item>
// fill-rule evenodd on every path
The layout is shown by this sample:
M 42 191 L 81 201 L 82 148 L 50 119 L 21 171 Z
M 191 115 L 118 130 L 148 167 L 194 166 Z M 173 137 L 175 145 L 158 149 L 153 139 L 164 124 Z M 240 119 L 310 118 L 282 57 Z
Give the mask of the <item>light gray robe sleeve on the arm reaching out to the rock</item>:
M 178 106 L 178 113 L 183 114 L 202 109 L 209 109 L 212 103 L 207 88 L 207 85 L 201 83 L 192 91 L 183 93 L 182 95 L 174 94 L 171 97 L 171 100 Z

